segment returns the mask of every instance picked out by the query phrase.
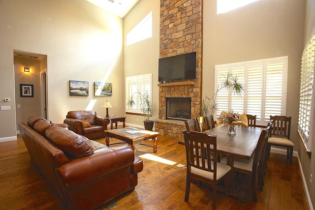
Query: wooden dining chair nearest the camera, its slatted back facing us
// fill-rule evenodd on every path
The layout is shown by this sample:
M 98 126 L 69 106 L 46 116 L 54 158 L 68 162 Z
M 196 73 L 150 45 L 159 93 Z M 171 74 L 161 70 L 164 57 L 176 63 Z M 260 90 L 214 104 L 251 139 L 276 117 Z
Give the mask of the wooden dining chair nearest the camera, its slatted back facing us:
M 186 159 L 187 159 L 187 178 L 185 202 L 189 200 L 190 183 L 192 180 L 199 180 L 209 183 L 213 187 L 213 209 L 216 209 L 217 183 L 224 180 L 225 196 L 228 196 L 229 171 L 231 167 L 217 162 L 217 136 L 209 136 L 206 133 L 183 131 Z M 204 150 L 194 149 L 204 148 Z M 205 158 L 213 153 L 213 159 Z M 201 154 L 199 154 L 201 152 Z M 199 158 L 196 158 L 199 157 Z

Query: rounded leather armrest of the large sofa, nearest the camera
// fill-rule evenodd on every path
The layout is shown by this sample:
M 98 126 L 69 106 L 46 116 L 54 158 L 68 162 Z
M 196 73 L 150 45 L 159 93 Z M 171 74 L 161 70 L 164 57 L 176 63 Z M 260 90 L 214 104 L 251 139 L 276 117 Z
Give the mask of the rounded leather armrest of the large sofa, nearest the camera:
M 124 145 L 100 149 L 91 155 L 73 159 L 56 168 L 56 173 L 63 187 L 69 190 L 128 167 L 133 162 L 134 151 Z

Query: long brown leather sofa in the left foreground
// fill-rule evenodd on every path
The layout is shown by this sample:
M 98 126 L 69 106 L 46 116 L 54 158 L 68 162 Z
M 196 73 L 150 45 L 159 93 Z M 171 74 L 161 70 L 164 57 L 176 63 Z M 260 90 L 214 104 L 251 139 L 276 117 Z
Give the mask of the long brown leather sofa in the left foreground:
M 143 162 L 126 145 L 109 148 L 36 117 L 18 126 L 32 161 L 69 209 L 96 209 L 138 183 Z

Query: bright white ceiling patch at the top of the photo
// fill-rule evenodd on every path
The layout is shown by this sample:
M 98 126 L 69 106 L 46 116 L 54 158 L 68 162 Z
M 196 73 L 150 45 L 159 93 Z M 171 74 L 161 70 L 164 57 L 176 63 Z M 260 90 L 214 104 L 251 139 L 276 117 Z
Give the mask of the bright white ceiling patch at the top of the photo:
M 138 3 L 139 0 L 87 0 L 106 11 L 113 13 L 121 18 L 125 18 L 126 14 Z

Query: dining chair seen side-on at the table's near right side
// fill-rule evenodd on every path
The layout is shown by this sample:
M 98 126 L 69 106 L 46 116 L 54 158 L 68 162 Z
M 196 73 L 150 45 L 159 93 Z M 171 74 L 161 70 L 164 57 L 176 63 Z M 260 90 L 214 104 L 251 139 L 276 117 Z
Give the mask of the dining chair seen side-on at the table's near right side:
M 258 189 L 258 168 L 261 164 L 261 153 L 264 143 L 267 141 L 267 133 L 269 132 L 269 127 L 261 131 L 258 139 L 256 149 L 254 150 L 253 158 L 244 159 L 235 157 L 233 160 L 233 170 L 239 173 L 247 174 L 250 176 L 250 189 L 252 192 L 252 200 L 258 202 L 257 189 Z M 227 158 L 223 158 L 221 163 L 227 163 Z

